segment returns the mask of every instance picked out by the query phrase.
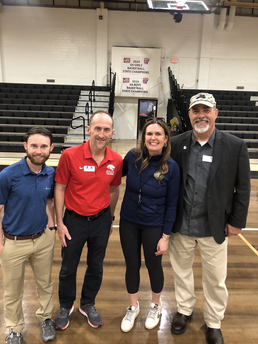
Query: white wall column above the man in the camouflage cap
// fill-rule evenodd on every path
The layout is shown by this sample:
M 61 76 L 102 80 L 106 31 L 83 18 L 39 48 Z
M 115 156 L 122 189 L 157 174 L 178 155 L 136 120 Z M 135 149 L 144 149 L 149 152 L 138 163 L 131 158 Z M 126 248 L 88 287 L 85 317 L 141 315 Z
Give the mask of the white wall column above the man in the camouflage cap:
M 211 63 L 212 33 L 214 26 L 214 13 L 203 14 L 203 28 L 200 51 L 200 65 L 198 75 L 198 89 L 209 88 L 209 68 Z

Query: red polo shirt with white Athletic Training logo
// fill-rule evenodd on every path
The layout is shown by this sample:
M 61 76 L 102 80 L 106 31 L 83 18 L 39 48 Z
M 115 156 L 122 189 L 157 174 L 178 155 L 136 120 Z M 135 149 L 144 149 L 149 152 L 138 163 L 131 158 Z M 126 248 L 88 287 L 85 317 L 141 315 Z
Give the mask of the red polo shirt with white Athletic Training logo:
M 55 181 L 67 185 L 66 208 L 90 216 L 109 205 L 109 186 L 120 185 L 121 176 L 122 157 L 106 147 L 105 157 L 98 166 L 90 153 L 88 140 L 63 151 Z

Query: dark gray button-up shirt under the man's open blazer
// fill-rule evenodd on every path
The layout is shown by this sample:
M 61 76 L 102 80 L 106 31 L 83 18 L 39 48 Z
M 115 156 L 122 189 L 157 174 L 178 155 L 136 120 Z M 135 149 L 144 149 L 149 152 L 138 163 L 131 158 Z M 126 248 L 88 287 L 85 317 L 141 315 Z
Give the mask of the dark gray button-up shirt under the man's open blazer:
M 183 222 L 180 234 L 189 237 L 212 236 L 207 209 L 207 183 L 212 157 L 215 130 L 209 140 L 201 146 L 192 134 L 186 187 L 184 191 Z

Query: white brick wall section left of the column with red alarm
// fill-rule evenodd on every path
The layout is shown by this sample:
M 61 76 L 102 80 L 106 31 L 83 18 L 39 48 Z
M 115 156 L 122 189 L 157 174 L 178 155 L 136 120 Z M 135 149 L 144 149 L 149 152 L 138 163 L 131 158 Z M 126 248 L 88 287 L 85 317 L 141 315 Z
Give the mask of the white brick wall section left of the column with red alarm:
M 0 17 L 4 81 L 92 83 L 95 10 L 3 6 Z

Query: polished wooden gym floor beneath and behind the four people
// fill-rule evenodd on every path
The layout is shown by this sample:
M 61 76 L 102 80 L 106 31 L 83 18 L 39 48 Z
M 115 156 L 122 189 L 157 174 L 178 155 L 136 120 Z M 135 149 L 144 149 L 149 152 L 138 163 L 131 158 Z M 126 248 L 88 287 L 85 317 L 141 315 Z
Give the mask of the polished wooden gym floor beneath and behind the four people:
M 109 144 L 122 157 L 127 151 L 136 146 L 136 140 L 117 140 Z M 3 154 L 3 153 L 2 153 Z M 0 161 L 8 165 L 18 161 L 20 157 L 7 158 L 2 155 Z M 10 157 L 10 155 L 9 155 Z M 55 166 L 58 158 L 48 160 L 49 165 Z M 251 169 L 257 171 L 256 161 L 251 162 Z M 254 164 L 254 165 L 253 165 Z M 77 271 L 77 299 L 74 303 L 74 311 L 70 316 L 70 324 L 64 331 L 56 332 L 54 343 L 57 344 L 205 344 L 204 319 L 203 319 L 203 292 L 201 258 L 196 251 L 193 265 L 195 276 L 195 294 L 197 296 L 194 315 L 188 324 L 187 330 L 182 335 L 174 335 L 170 332 L 172 317 L 176 312 L 174 297 L 174 279 L 168 253 L 163 255 L 164 288 L 162 292 L 163 310 L 160 323 L 152 330 L 144 327 L 150 303 L 150 282 L 148 272 L 142 257 L 141 284 L 139 305 L 140 313 L 135 321 L 133 329 L 128 333 L 120 330 L 120 323 L 128 307 L 127 292 L 125 286 L 125 261 L 119 241 L 118 225 L 120 205 L 125 190 L 125 177 L 120 186 L 120 197 L 116 208 L 113 233 L 109 239 L 106 258 L 104 260 L 104 276 L 101 289 L 96 298 L 96 308 L 103 318 L 103 326 L 94 329 L 89 326 L 84 315 L 79 313 L 80 287 L 83 282 L 86 269 L 86 250 L 84 249 Z M 228 274 L 226 285 L 229 298 L 222 321 L 222 332 L 225 344 L 257 343 L 258 340 L 258 179 L 251 180 L 251 200 L 247 218 L 248 230 L 243 230 L 241 235 L 228 240 Z M 1 214 L 3 215 L 3 214 Z M 254 230 L 256 229 L 256 230 Z M 132 248 L 133 249 L 133 248 Z M 52 268 L 52 280 L 54 287 L 54 311 L 55 319 L 58 303 L 58 274 L 61 266 L 61 244 L 56 239 L 54 262 Z M 2 286 L 2 272 L 0 269 Z M 3 287 L 0 289 L 0 342 L 4 343 L 7 330 L 3 318 Z M 36 286 L 30 266 L 26 266 L 24 281 L 23 311 L 25 317 L 25 329 L 23 338 L 25 344 L 42 343 L 40 327 L 35 317 L 38 308 Z

